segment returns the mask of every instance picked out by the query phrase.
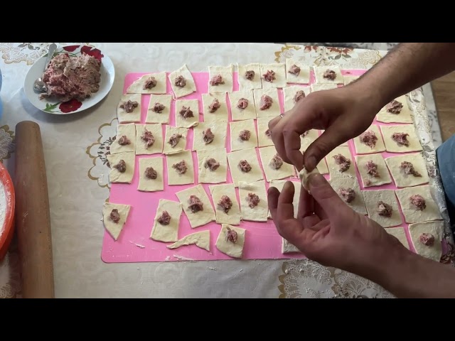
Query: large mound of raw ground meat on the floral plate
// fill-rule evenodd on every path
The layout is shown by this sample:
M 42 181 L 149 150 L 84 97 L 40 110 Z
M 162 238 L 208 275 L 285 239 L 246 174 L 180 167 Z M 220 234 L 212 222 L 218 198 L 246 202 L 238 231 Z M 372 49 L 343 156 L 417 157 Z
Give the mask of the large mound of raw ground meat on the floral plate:
M 90 97 L 100 90 L 100 68 L 101 61 L 86 53 L 77 57 L 56 55 L 43 73 L 46 91 L 40 94 L 40 99 L 57 97 L 60 102 L 68 102 Z

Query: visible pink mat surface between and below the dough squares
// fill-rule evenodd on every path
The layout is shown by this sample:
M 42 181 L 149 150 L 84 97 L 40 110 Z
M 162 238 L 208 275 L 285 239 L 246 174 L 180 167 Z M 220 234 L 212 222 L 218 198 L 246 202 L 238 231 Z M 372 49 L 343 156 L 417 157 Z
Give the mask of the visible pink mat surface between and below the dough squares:
M 349 70 L 343 71 L 343 75 L 361 75 L 365 70 Z M 149 72 L 147 72 L 149 73 Z M 142 75 L 146 73 L 129 73 L 125 77 L 124 81 L 124 93 L 126 93 L 127 87 L 137 80 Z M 190 94 L 184 99 L 199 99 L 199 112 L 203 112 L 201 94 L 208 92 L 208 72 L 193 72 L 193 77 L 196 82 L 197 92 Z M 314 75 L 311 74 L 311 83 L 314 82 Z M 167 80 L 167 92 L 171 94 L 171 84 Z M 234 90 L 238 90 L 237 84 L 237 73 L 234 73 Z M 228 109 L 230 110 L 229 100 L 226 97 L 228 103 Z M 282 90 L 279 90 L 279 99 L 280 106 L 283 109 L 283 98 Z M 141 98 L 141 124 L 144 124 L 146 111 L 149 106 L 150 95 L 142 95 Z M 170 125 L 175 126 L 175 102 L 172 101 L 171 104 L 171 120 Z M 229 114 L 229 120 L 231 120 Z M 203 115 L 200 115 L 200 121 L 203 121 Z M 382 124 L 377 121 L 374 121 L 375 124 Z M 165 131 L 165 125 L 163 128 L 163 136 Z M 227 134 L 226 147 L 227 151 L 230 151 L 230 134 Z M 191 149 L 193 145 L 193 131 L 188 134 L 188 144 L 187 149 Z M 355 155 L 355 148 L 353 146 L 353 141 L 348 141 L 350 151 L 352 155 Z M 259 161 L 259 153 L 258 161 Z M 382 153 L 382 156 L 387 157 L 392 154 Z M 395 154 L 397 155 L 397 154 Z M 196 245 L 189 245 L 185 247 L 180 247 L 178 249 L 168 249 L 166 245 L 172 243 L 163 243 L 156 242 L 149 238 L 151 234 L 151 228 L 153 226 L 154 217 L 156 214 L 156 207 L 160 198 L 175 200 L 178 201 L 175 193 L 184 190 L 193 185 L 167 185 L 167 169 L 166 169 L 166 160 L 164 160 L 164 191 L 146 193 L 140 192 L 137 190 L 137 185 L 139 183 L 139 158 L 166 158 L 162 154 L 154 154 L 151 156 L 136 156 L 136 165 L 134 178 L 131 184 L 120 184 L 112 183 L 109 202 L 128 204 L 131 205 L 131 210 L 129 212 L 129 217 L 127 223 L 124 225 L 122 233 L 119 236 L 117 241 L 105 231 L 105 236 L 102 243 L 102 260 L 107 263 L 123 263 L 123 262 L 140 262 L 140 261 L 178 261 L 178 260 L 219 260 L 219 259 L 232 259 L 230 256 L 223 254 L 218 251 L 215 247 L 215 242 L 220 232 L 221 225 L 211 222 L 206 224 L 203 227 L 198 227 L 196 229 L 191 229 L 188 222 L 188 218 L 185 213 L 181 215 L 180 227 L 178 231 L 178 238 L 182 238 L 188 234 L 210 230 L 210 252 L 205 251 L 196 247 Z M 353 160 L 353 162 L 355 162 Z M 198 163 L 196 158 L 196 152 L 193 152 L 193 163 L 194 163 L 194 174 L 196 183 L 198 183 Z M 360 183 L 360 187 L 363 189 L 360 175 L 357 176 Z M 328 175 L 326 175 L 328 178 Z M 297 178 L 290 180 L 298 181 Z M 230 171 L 228 170 L 228 183 L 232 183 L 232 178 L 230 176 Z M 208 197 L 210 197 L 210 191 L 208 190 L 208 184 L 202 184 L 205 188 Z M 267 189 L 269 184 L 266 182 Z M 382 185 L 375 187 L 372 190 L 378 189 L 396 189 L 395 184 Z M 367 188 L 366 190 L 370 190 Z M 238 200 L 238 189 L 237 200 Z M 213 203 L 213 202 L 212 202 Z M 404 222 L 403 217 L 403 222 Z M 403 225 L 407 227 L 407 224 Z M 243 251 L 242 259 L 292 259 L 292 258 L 304 258 L 304 255 L 299 253 L 294 254 L 282 254 L 282 238 L 279 236 L 277 229 L 274 226 L 272 220 L 268 222 L 241 222 L 240 227 L 247 230 L 245 234 L 245 247 Z M 406 228 L 407 230 L 407 228 Z M 410 242 L 409 232 L 407 232 L 407 238 Z M 412 243 L 410 243 L 412 246 Z

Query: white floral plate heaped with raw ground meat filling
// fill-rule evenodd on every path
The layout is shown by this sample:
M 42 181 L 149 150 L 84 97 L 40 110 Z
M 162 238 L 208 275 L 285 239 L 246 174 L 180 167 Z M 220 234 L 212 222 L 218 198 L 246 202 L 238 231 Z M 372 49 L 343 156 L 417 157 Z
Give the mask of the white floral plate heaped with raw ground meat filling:
M 57 48 L 44 70 L 46 58 L 47 55 L 44 55 L 32 65 L 23 84 L 28 100 L 43 112 L 82 112 L 105 98 L 114 84 L 112 60 L 93 46 Z M 46 88 L 42 93 L 33 90 L 33 83 L 39 77 Z

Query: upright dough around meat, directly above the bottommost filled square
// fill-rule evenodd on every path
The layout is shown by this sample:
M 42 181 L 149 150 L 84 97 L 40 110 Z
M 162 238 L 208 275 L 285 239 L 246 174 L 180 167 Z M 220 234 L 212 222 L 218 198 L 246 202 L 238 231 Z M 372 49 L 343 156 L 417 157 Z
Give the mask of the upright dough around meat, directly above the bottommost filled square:
M 240 205 L 235 194 L 235 185 L 233 183 L 226 183 L 224 185 L 211 185 L 208 188 L 212 195 L 213 205 L 215 206 L 216 222 L 218 224 L 239 225 Z M 230 207 L 228 213 L 225 213 L 225 210 L 218 205 L 223 195 L 227 195 L 232 201 L 232 207 Z

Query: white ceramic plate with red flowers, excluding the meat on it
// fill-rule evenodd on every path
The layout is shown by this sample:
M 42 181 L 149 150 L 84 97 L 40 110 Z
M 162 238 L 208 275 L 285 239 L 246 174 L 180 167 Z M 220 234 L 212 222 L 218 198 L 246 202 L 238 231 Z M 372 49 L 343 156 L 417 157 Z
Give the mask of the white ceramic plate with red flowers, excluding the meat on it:
M 112 88 L 114 84 L 115 70 L 112 60 L 110 60 L 107 55 L 102 53 L 97 48 L 89 45 L 70 45 L 57 48 L 54 55 L 60 53 L 68 53 L 70 56 L 81 55 L 82 52 L 87 53 L 88 55 L 93 55 L 95 58 L 101 58 L 101 80 L 100 80 L 100 90 L 92 94 L 92 97 L 84 99 L 82 102 L 77 101 L 76 99 L 71 99 L 68 102 L 59 102 L 57 99 L 39 99 L 39 94 L 33 91 L 33 82 L 43 75 L 45 60 L 47 55 L 36 60 L 32 65 L 30 70 L 26 75 L 26 79 L 23 82 L 23 90 L 26 93 L 26 97 L 33 104 L 33 107 L 40 109 L 43 112 L 48 112 L 49 114 L 75 114 L 76 112 L 82 112 L 82 110 L 93 107 L 95 104 L 100 102 Z

